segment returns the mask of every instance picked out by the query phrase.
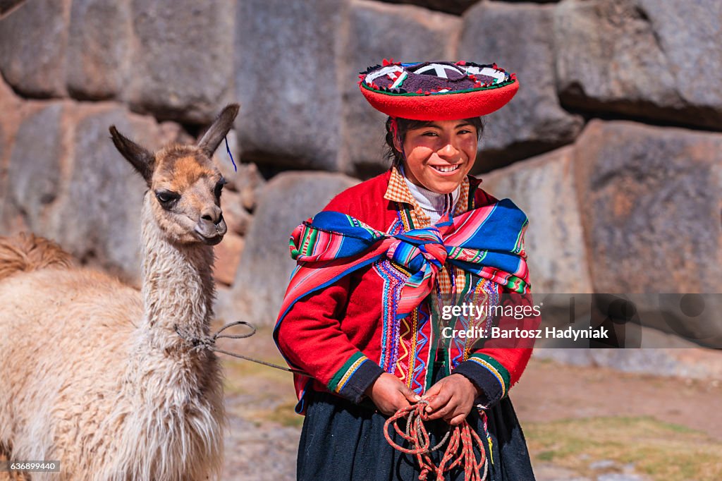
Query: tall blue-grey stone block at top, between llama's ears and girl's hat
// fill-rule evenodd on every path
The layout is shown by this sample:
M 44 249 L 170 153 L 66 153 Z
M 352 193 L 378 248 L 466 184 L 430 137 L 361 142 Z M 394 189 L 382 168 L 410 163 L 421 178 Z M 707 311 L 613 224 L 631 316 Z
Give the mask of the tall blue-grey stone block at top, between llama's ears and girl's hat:
M 335 59 L 345 8 L 345 0 L 238 2 L 235 125 L 244 160 L 338 168 Z

